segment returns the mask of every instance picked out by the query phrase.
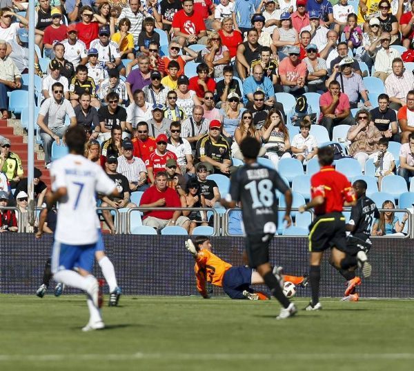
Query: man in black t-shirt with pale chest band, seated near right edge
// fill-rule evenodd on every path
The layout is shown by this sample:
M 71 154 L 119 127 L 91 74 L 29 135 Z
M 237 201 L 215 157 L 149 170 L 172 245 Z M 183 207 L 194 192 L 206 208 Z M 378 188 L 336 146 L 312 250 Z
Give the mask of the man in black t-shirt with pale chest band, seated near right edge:
M 401 136 L 398 134 L 397 114 L 389 108 L 389 103 L 390 97 L 387 94 L 383 93 L 378 96 L 378 107 L 370 111 L 371 122 L 388 141 L 401 143 Z

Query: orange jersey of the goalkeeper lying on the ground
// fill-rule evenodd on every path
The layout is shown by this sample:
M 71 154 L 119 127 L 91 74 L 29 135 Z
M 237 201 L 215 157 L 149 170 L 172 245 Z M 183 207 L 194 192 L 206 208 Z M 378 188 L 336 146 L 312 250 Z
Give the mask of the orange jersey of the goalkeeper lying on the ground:
M 195 276 L 197 277 L 197 290 L 206 293 L 206 280 L 213 285 L 223 287 L 224 273 L 232 267 L 231 264 L 216 257 L 213 252 L 201 250 L 195 259 Z

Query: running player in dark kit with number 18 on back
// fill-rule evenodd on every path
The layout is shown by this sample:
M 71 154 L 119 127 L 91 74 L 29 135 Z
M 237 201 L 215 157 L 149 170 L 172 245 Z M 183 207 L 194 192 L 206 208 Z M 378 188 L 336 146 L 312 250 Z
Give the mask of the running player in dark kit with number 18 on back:
M 277 230 L 277 199 L 275 190 L 286 199 L 286 226 L 292 223 L 290 207 L 292 192 L 276 170 L 257 163 L 261 143 L 253 137 L 246 137 L 240 143 L 245 165 L 233 174 L 230 181 L 230 194 L 221 199 L 226 208 L 235 208 L 242 201 L 242 217 L 246 230 L 246 254 L 248 265 L 255 268 L 273 296 L 282 304 L 277 319 L 286 319 L 296 314 L 294 303 L 290 303 L 280 287 L 282 277 L 275 277 L 269 263 L 269 243 Z M 279 276 L 279 274 L 277 274 Z

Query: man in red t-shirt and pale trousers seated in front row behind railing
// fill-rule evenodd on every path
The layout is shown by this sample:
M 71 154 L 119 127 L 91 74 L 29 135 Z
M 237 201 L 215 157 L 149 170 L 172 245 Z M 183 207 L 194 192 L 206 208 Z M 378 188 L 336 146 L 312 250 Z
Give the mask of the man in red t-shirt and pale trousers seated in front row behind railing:
M 167 174 L 164 171 L 158 172 L 155 176 L 155 184 L 142 194 L 139 201 L 141 208 L 153 208 L 144 212 L 142 223 L 157 230 L 168 225 L 179 225 L 188 232 L 190 219 L 183 217 L 179 210 L 157 210 L 157 208 L 181 208 L 181 201 L 177 191 L 167 187 Z

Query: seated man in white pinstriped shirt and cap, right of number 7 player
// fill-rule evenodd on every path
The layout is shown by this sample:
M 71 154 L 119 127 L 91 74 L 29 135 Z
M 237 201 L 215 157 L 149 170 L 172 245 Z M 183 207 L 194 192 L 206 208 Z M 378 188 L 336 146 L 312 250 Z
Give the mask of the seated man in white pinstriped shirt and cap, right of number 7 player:
M 144 161 L 133 155 L 134 146 L 126 139 L 122 142 L 122 154 L 118 157 L 117 172 L 128 179 L 130 192 L 148 188 L 147 170 Z

